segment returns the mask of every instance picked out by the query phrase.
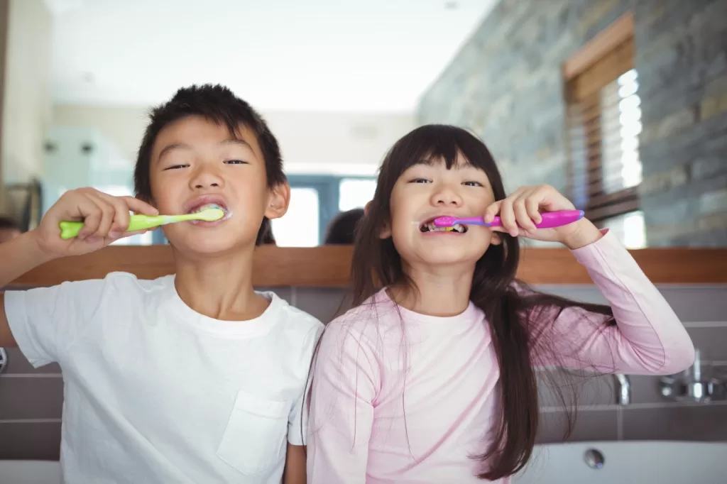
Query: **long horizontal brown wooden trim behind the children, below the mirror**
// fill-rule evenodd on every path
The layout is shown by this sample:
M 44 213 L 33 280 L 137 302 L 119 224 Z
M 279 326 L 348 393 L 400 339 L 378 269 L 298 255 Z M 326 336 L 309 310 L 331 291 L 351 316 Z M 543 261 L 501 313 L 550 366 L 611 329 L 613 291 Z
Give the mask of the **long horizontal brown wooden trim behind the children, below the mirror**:
M 640 249 L 631 251 L 654 283 L 727 283 L 727 249 Z M 253 283 L 259 287 L 348 286 L 351 246 L 260 247 L 255 251 Z M 23 275 L 11 286 L 52 286 L 63 281 L 103 278 L 125 271 L 142 279 L 174 273 L 169 246 L 114 246 L 79 257 L 57 259 Z M 567 249 L 523 249 L 518 277 L 538 284 L 590 284 Z

